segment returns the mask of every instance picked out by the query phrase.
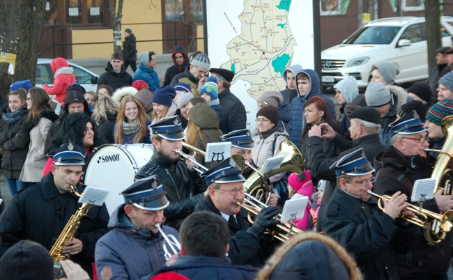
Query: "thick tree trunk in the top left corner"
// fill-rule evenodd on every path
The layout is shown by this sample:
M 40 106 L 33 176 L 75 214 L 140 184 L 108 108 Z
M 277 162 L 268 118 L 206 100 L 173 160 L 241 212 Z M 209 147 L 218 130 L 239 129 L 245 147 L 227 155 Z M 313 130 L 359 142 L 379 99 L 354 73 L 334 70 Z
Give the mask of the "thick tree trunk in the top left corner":
M 16 54 L 14 75 L 8 75 L 8 63 L 0 63 L 0 98 L 9 92 L 13 81 L 31 79 L 35 83 L 45 0 L 1 1 L 0 52 Z

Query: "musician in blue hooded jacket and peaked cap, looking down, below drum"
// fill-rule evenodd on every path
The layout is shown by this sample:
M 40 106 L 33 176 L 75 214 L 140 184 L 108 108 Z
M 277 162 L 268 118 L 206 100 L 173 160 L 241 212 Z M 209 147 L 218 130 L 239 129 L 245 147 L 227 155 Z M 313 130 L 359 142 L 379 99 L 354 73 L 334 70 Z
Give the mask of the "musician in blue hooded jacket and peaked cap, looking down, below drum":
M 165 263 L 164 238 L 155 226 L 162 224 L 169 205 L 164 188 L 156 176 L 150 176 L 135 181 L 121 194 L 125 204 L 110 218 L 112 231 L 96 244 L 96 270 L 102 280 L 141 279 Z M 162 226 L 162 230 L 178 238 L 174 228 Z

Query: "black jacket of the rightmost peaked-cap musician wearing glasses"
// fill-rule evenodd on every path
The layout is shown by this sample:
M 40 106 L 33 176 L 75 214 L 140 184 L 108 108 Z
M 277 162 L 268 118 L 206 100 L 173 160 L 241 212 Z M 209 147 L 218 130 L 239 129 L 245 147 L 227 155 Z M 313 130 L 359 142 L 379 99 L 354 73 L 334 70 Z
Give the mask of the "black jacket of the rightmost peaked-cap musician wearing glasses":
M 377 156 L 375 161 L 376 182 L 374 191 L 378 194 L 392 195 L 402 192 L 408 196 L 412 194 L 415 180 L 431 177 L 432 169 L 420 155 L 404 156 L 393 147 L 388 148 L 382 156 Z M 417 202 L 410 201 L 417 205 Z M 423 203 L 423 208 L 440 212 L 435 199 L 429 199 Z M 417 228 L 422 231 L 422 228 Z M 436 278 L 438 275 L 447 273 L 451 257 L 451 232 L 440 242 L 439 246 L 429 246 L 424 238 L 420 239 L 413 250 L 408 254 L 398 255 L 398 272 L 401 277 L 427 277 Z

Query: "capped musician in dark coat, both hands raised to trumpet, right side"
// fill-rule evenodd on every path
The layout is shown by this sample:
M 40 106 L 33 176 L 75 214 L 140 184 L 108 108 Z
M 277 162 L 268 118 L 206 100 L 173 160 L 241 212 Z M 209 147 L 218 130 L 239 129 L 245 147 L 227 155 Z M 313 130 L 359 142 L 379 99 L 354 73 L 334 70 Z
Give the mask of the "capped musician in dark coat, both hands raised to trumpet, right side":
M 373 188 L 374 169 L 363 149 L 344 155 L 330 167 L 337 175 L 338 187 L 325 205 L 321 228 L 351 252 L 366 279 L 399 279 L 396 254 L 407 251 L 420 239 L 413 224 L 397 219 L 406 210 L 407 196 L 396 192 L 380 210 Z

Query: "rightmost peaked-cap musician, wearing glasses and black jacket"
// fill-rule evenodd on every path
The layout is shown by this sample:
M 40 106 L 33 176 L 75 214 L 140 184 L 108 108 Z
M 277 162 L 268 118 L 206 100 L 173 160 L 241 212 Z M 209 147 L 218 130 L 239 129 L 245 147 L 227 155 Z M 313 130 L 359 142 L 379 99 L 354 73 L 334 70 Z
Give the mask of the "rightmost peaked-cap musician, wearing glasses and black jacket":
M 392 146 L 381 157 L 376 157 L 376 193 L 401 192 L 410 198 L 415 180 L 431 177 L 432 169 L 424 151 L 429 146 L 428 132 L 415 111 L 391 123 L 390 127 Z M 417 204 L 417 201 L 410 203 Z M 436 213 L 445 212 L 453 208 L 453 198 L 442 195 L 439 190 L 434 199 L 424 201 L 422 207 Z M 401 279 L 447 279 L 450 244 L 451 233 L 435 247 L 420 239 L 408 254 L 397 256 Z

